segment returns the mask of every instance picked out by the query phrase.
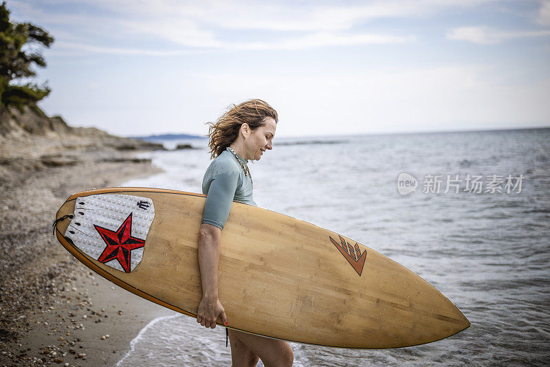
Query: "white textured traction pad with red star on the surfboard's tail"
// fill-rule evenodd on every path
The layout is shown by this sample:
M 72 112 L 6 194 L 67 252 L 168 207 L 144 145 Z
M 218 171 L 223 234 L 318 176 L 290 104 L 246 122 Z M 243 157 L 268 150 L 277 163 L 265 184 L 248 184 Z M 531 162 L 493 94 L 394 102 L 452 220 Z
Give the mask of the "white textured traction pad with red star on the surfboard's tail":
M 65 236 L 85 254 L 129 273 L 143 257 L 153 200 L 123 194 L 78 197 Z

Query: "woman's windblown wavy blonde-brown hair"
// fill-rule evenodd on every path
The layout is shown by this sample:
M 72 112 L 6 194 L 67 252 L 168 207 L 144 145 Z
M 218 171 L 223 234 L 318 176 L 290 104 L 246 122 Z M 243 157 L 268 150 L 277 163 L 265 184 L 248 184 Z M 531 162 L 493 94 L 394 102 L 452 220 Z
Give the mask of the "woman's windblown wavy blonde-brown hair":
M 242 124 L 248 124 L 253 131 L 262 126 L 265 118 L 278 121 L 277 111 L 263 100 L 248 100 L 232 104 L 216 122 L 207 122 L 210 158 L 220 155 L 239 136 Z

